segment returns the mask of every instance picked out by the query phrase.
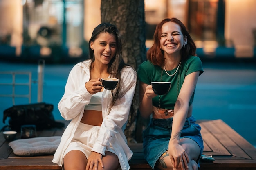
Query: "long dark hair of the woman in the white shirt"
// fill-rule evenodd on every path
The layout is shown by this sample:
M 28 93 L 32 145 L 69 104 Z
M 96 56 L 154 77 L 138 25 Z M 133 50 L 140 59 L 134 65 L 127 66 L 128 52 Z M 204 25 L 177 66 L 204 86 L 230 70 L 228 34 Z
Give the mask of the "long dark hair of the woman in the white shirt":
M 124 39 L 121 37 L 121 34 L 119 33 L 117 27 L 110 23 L 102 23 L 94 28 L 94 30 L 92 32 L 92 37 L 88 43 L 89 55 L 90 55 L 89 59 L 91 59 L 92 62 L 94 62 L 94 60 L 95 60 L 94 52 L 90 48 L 90 44 L 91 44 L 91 42 L 94 42 L 95 39 L 97 39 L 99 37 L 100 33 L 109 33 L 109 34 L 114 35 L 116 38 L 116 42 L 117 42 L 116 54 L 111 59 L 110 63 L 108 64 L 108 73 L 111 74 L 111 77 L 119 79 L 119 82 L 116 87 L 116 93 L 114 94 L 114 92 L 111 91 L 112 95 L 113 95 L 113 100 L 111 102 L 110 107 L 112 107 L 115 104 L 115 101 L 117 100 L 117 98 L 121 98 L 121 96 L 124 95 L 124 94 L 119 94 L 120 88 L 121 88 L 121 83 L 122 83 L 121 70 L 122 70 L 122 68 L 129 66 L 129 65 L 124 63 L 124 60 L 122 58 L 122 46 L 124 45 Z M 132 102 L 132 105 L 130 108 L 130 112 L 132 113 L 132 115 L 134 114 L 133 102 Z

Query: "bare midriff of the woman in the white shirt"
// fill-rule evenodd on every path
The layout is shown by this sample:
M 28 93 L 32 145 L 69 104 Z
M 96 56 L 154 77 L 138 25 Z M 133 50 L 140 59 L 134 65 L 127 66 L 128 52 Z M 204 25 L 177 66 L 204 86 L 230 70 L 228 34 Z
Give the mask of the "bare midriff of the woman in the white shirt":
M 97 110 L 84 110 L 81 123 L 90 124 L 93 126 L 101 126 L 102 124 L 102 111 Z

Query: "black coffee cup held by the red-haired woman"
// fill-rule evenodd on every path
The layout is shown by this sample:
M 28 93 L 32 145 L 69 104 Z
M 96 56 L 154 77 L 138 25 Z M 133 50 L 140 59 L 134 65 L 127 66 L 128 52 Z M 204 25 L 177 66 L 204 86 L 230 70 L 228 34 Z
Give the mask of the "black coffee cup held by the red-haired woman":
M 166 81 L 154 81 L 151 82 L 152 89 L 155 94 L 164 95 L 167 94 L 171 88 L 171 82 Z

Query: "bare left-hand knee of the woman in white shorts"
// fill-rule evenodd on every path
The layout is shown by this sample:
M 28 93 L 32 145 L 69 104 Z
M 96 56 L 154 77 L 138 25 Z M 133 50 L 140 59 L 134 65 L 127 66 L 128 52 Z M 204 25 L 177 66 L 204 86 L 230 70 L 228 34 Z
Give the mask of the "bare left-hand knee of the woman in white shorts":
M 63 159 L 65 170 L 85 170 L 87 159 L 79 150 L 68 152 Z

